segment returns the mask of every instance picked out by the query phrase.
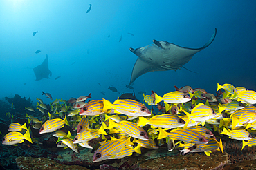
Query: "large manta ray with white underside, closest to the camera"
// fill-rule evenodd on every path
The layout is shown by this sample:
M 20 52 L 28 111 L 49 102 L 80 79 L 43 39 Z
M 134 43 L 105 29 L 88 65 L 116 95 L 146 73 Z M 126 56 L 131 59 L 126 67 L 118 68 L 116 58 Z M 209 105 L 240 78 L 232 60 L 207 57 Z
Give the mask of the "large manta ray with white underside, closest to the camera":
M 152 45 L 136 48 L 135 50 L 130 48 L 130 51 L 138 56 L 138 59 L 134 64 L 129 84 L 131 85 L 136 78 L 147 72 L 180 69 L 192 59 L 196 52 L 200 52 L 205 47 L 208 47 L 214 40 L 216 33 L 217 29 L 215 28 L 210 40 L 200 48 L 180 47 L 167 41 L 156 40 L 153 40 L 154 44 Z

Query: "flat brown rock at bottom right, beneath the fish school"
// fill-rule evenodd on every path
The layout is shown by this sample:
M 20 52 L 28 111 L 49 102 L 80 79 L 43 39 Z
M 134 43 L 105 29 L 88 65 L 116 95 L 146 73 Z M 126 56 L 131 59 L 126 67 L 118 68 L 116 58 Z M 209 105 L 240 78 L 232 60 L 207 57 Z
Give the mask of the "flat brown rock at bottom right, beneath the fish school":
M 214 161 L 212 161 L 214 160 Z M 165 156 L 147 160 L 140 164 L 140 168 L 161 170 L 161 169 L 219 169 L 228 163 L 228 154 L 205 153 L 188 154 L 185 156 Z

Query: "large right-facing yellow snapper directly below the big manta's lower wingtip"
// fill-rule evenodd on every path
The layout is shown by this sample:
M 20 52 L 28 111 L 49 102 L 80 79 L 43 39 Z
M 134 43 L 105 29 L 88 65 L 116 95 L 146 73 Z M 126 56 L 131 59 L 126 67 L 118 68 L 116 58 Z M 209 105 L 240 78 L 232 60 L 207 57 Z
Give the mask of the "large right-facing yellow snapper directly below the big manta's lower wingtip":
M 150 116 L 151 112 L 145 105 L 136 100 L 124 99 L 116 100 L 113 104 L 109 100 L 103 98 L 103 111 L 114 109 L 115 113 L 125 114 L 128 116 Z

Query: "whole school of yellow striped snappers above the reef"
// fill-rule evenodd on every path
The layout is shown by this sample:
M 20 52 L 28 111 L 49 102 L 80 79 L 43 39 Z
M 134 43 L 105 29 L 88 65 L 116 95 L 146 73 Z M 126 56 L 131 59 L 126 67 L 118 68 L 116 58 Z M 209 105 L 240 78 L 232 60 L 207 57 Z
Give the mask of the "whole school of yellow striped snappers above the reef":
M 181 147 L 181 154 L 204 152 L 210 156 L 212 150 L 223 153 L 221 137 L 216 138 L 212 131 L 242 140 L 242 149 L 256 145 L 256 138 L 251 135 L 256 129 L 255 91 L 230 84 L 217 84 L 217 96 L 190 86 L 175 86 L 175 89 L 162 97 L 153 91 L 151 95 L 143 94 L 151 111 L 131 99 L 111 103 L 103 98 L 86 103 L 91 98 L 89 94 L 68 101 L 56 99 L 50 110 L 37 98 L 37 109 L 48 114 L 48 120 L 46 116 L 42 120 L 28 114 L 26 117 L 33 128 L 39 129 L 39 134 L 53 132 L 58 138 L 57 147 L 68 147 L 76 153 L 79 153 L 78 145 L 95 149 L 93 162 L 125 158 L 134 152 L 140 154 L 140 147 L 158 149 L 164 142 L 168 151 Z M 157 113 L 153 113 L 155 106 L 159 109 Z M 32 107 L 26 109 L 35 112 Z M 72 136 L 70 131 L 66 134 L 59 130 L 64 125 L 72 125 L 77 134 Z M 33 143 L 26 123 L 11 123 L 8 131 L 3 138 L 4 145 L 17 145 L 24 140 Z M 90 140 L 100 136 L 102 142 L 89 145 Z

